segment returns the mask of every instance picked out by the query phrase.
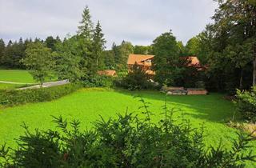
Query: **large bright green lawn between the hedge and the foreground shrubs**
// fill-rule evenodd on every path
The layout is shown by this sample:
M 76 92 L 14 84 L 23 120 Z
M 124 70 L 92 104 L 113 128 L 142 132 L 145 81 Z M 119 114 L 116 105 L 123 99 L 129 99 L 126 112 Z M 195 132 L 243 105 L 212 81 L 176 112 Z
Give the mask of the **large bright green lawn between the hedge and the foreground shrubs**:
M 23 133 L 22 122 L 26 122 L 31 130 L 35 128 L 46 130 L 54 128 L 51 115 L 62 115 L 64 118 L 77 118 L 82 121 L 82 127 L 92 126 L 102 115 L 103 118 L 114 117 L 116 113 L 124 114 L 126 107 L 130 112 L 140 113 L 138 107 L 141 102 L 134 95 L 141 95 L 146 102 L 150 102 L 150 111 L 154 112 L 153 120 L 161 118 L 162 106 L 165 98 L 168 106 L 180 108 L 174 114 L 177 121 L 182 118 L 190 119 L 192 126 L 199 127 L 204 123 L 207 145 L 217 146 L 220 138 L 229 148 L 230 138 L 236 137 L 236 131 L 226 126 L 234 111 L 232 102 L 224 100 L 222 94 L 206 96 L 166 96 L 154 91 L 118 91 L 118 90 L 79 90 L 74 94 L 60 98 L 53 102 L 27 104 L 0 110 L 0 143 L 7 142 L 14 146 L 14 138 Z M 253 144 L 254 146 L 256 143 Z M 256 149 L 254 151 L 256 153 Z

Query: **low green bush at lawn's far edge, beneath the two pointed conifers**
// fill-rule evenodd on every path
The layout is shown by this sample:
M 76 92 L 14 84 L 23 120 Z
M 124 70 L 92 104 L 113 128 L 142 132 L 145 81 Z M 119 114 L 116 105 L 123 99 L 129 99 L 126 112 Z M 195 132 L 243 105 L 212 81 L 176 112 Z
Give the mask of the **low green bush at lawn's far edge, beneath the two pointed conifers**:
M 95 74 L 83 79 L 82 84 L 85 87 L 111 87 L 113 86 L 113 81 L 113 77 Z

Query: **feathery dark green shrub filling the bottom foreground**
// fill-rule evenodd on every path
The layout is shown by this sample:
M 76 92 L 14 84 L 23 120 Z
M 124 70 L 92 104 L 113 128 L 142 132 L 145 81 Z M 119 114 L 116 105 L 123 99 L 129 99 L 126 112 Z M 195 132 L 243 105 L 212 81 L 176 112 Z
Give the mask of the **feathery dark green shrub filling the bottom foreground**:
M 143 102 L 143 101 L 142 101 Z M 2 146 L 3 167 L 244 167 L 254 161 L 250 136 L 238 134 L 232 150 L 202 143 L 203 128 L 194 130 L 183 121 L 175 125 L 172 113 L 165 107 L 162 120 L 154 124 L 144 103 L 146 118 L 134 114 L 118 114 L 116 119 L 103 118 L 94 130 L 82 131 L 80 122 L 68 123 L 54 118 L 59 130 L 36 130 L 18 138 L 18 148 Z M 1 166 L 1 165 L 0 165 Z

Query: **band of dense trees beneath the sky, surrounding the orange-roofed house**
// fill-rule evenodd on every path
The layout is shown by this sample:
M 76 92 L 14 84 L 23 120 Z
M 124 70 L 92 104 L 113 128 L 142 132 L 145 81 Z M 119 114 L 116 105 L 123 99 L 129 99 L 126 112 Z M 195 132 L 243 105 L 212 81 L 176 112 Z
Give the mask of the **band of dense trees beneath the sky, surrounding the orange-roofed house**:
M 80 80 L 98 70 L 126 72 L 129 54 L 154 54 L 155 80 L 162 85 L 195 86 L 196 82 L 204 82 L 208 90 L 232 94 L 236 88 L 249 89 L 255 85 L 256 2 L 219 0 L 218 3 L 212 17 L 214 22 L 185 46 L 170 31 L 155 38 L 150 46 L 133 46 L 131 42 L 123 41 L 106 50 L 102 26 L 100 22 L 94 26 L 86 7 L 77 34 L 64 40 L 49 36 L 45 40 L 20 38 L 18 42 L 5 44 L 1 39 L 0 62 L 8 68 L 30 67 L 26 55 L 34 57 L 35 45 L 53 59 L 59 78 Z M 180 57 L 191 55 L 198 56 L 202 66 L 206 67 L 203 73 L 182 66 L 184 62 Z M 47 64 L 50 66 L 49 62 Z

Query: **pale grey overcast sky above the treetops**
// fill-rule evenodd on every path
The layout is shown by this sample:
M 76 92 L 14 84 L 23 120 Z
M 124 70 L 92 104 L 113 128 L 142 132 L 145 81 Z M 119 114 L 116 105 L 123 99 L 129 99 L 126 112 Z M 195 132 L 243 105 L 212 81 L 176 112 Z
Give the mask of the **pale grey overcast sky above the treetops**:
M 0 38 L 75 34 L 86 5 L 94 23 L 102 23 L 108 47 L 122 40 L 150 45 L 170 29 L 186 44 L 211 22 L 217 7 L 212 0 L 0 0 Z

